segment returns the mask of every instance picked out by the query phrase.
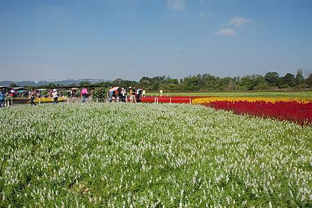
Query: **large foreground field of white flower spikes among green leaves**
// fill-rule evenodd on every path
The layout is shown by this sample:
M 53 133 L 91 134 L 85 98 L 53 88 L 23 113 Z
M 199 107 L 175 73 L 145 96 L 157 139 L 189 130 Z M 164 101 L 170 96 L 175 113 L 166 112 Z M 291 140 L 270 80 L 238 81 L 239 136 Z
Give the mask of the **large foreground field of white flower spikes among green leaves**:
M 311 207 L 311 126 L 201 105 L 0 110 L 0 207 Z

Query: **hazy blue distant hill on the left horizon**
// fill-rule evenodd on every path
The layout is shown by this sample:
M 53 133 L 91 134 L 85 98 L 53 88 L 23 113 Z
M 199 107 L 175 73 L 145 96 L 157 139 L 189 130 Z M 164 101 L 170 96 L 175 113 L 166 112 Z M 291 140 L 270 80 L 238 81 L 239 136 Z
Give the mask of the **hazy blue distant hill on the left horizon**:
M 16 85 L 20 87 L 25 87 L 25 86 L 33 86 L 37 87 L 40 85 L 49 85 L 50 83 L 53 83 L 55 85 L 71 85 L 75 84 L 78 85 L 80 82 L 89 82 L 91 84 L 95 83 L 102 83 L 102 82 L 111 82 L 111 80 L 103 80 L 103 79 L 88 79 L 88 78 L 83 78 L 83 79 L 77 79 L 77 80 L 40 80 L 40 81 L 10 81 L 10 80 L 3 80 L 0 81 L 0 86 L 9 86 L 11 83 L 15 83 Z

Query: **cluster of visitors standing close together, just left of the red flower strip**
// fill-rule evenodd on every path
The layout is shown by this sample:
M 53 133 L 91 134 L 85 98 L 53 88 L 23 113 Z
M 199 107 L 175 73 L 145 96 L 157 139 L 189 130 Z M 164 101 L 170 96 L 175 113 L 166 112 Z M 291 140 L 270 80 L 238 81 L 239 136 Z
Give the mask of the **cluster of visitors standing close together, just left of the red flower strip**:
M 129 94 L 129 101 L 128 101 Z M 108 101 L 112 102 L 123 102 L 123 103 L 141 103 L 141 97 L 146 96 L 145 89 L 129 87 L 128 90 L 123 87 L 110 87 L 107 92 Z

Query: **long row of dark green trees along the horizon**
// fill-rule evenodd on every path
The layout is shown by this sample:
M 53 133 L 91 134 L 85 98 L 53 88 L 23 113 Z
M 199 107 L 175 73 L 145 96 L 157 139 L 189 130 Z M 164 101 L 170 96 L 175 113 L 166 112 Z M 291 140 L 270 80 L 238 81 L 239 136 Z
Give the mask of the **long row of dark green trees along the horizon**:
M 104 87 L 108 88 L 111 85 L 119 87 L 140 87 L 149 92 L 159 91 L 162 89 L 166 92 L 193 92 L 193 91 L 231 91 L 231 90 L 265 90 L 265 89 L 304 89 L 312 87 L 312 73 L 304 78 L 302 69 L 298 69 L 296 75 L 286 73 L 284 76 L 279 76 L 277 72 L 268 72 L 265 76 L 261 75 L 246 75 L 243 77 L 224 77 L 219 78 L 209 73 L 189 76 L 183 79 L 175 79 L 166 76 L 155 76 L 153 78 L 143 77 L 139 82 L 131 80 L 122 80 L 117 78 L 112 82 L 91 84 L 81 82 L 79 85 L 49 85 L 37 86 L 28 88 L 55 88 L 55 87 Z

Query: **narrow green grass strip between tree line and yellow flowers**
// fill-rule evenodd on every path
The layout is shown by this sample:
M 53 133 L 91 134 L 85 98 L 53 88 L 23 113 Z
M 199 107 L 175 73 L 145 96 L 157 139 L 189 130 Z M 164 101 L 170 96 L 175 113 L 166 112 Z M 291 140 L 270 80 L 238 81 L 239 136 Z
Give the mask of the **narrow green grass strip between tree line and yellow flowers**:
M 156 92 L 147 95 L 157 95 Z M 226 97 L 285 97 L 312 100 L 312 91 L 309 92 L 164 92 L 164 96 L 226 96 Z

